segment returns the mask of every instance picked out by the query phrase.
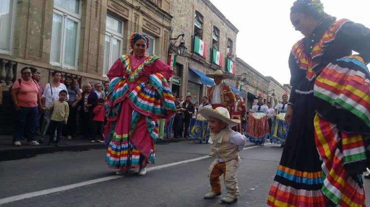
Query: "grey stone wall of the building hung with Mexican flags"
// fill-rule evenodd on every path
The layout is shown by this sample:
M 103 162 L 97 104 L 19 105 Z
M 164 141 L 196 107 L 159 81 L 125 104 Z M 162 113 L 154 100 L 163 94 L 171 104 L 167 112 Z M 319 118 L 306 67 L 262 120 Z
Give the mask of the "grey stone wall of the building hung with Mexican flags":
M 192 52 L 195 11 L 200 12 L 204 18 L 202 40 L 207 44 L 207 56 L 205 59 Z M 177 57 L 177 62 L 184 66 L 183 77 L 179 78 L 181 78 L 183 83 L 181 85 L 180 95 L 185 96 L 188 91 L 186 84 L 189 79 L 188 67 L 194 68 L 204 74 L 214 73 L 217 69 L 225 71 L 225 59 L 223 59 L 222 67 L 211 63 L 213 26 L 216 26 L 220 30 L 219 51 L 223 54 L 223 58 L 226 57 L 227 38 L 230 38 L 233 41 L 232 51 L 235 52 L 236 35 L 238 30 L 209 0 L 171 0 L 170 14 L 173 16 L 171 22 L 172 32 L 170 33 L 170 36 L 174 38 L 179 34 L 185 34 L 184 40 L 185 46 L 187 47 L 186 54 L 184 56 Z M 178 44 L 176 43 L 175 46 L 178 46 Z M 173 54 L 177 55 L 176 52 L 173 52 Z M 226 80 L 225 82 L 232 83 L 233 85 L 235 83 L 233 80 Z M 207 87 L 203 85 L 202 88 L 202 94 L 196 94 L 197 97 L 206 95 Z

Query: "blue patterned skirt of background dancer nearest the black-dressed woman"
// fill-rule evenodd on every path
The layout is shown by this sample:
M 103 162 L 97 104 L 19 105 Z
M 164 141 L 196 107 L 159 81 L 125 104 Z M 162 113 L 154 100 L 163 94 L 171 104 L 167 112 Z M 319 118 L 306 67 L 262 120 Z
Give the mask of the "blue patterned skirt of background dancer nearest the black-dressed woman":
M 289 125 L 285 122 L 285 113 L 276 115 L 272 122 L 270 142 L 284 144 L 287 140 Z

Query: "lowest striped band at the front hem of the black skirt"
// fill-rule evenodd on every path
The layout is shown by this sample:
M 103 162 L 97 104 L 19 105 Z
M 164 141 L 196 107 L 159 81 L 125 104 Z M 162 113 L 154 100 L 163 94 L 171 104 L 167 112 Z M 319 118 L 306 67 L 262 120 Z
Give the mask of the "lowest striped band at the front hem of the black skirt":
M 270 207 L 325 207 L 325 198 L 320 190 L 304 190 L 273 181 L 268 193 Z

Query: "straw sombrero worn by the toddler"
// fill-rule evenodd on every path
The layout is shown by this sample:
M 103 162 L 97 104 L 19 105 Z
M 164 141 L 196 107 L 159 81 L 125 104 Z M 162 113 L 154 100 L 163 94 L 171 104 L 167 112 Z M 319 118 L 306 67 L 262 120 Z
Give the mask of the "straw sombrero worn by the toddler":
M 206 119 L 209 119 L 209 117 L 220 119 L 228 126 L 236 126 L 240 123 L 238 119 L 231 119 L 229 112 L 223 107 L 217 107 L 216 109 L 202 108 L 200 114 Z

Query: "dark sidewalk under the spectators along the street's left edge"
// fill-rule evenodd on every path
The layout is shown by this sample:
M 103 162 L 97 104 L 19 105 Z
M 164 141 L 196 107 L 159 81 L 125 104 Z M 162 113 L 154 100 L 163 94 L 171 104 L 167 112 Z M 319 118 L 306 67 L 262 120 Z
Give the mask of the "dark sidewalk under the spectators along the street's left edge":
M 48 146 L 47 141 L 44 140 L 43 144 L 39 146 L 31 146 L 26 140 L 22 140 L 20 147 L 12 145 L 12 135 L 0 135 L 0 161 L 23 159 L 34 157 L 37 154 L 53 153 L 58 151 L 85 151 L 90 149 L 104 149 L 105 144 L 102 143 L 91 143 L 89 140 L 82 139 L 82 135 L 74 137 L 72 140 L 61 140 L 60 146 L 55 147 L 54 145 Z M 168 144 L 175 142 L 191 141 L 192 139 L 158 139 L 156 144 Z M 36 139 L 38 141 L 38 138 Z

